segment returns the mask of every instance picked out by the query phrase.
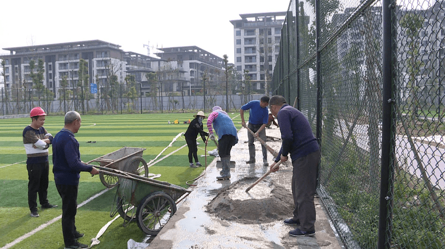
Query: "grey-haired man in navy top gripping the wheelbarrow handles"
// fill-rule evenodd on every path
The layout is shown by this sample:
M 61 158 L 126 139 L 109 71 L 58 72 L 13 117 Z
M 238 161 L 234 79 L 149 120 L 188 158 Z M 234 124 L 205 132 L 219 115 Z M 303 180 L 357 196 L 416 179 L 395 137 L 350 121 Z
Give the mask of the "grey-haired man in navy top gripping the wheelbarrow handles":
M 87 248 L 85 244 L 77 242 L 83 234 L 77 232 L 75 216 L 77 213 L 77 190 L 80 172 L 86 171 L 91 175 L 99 171 L 80 161 L 79 143 L 74 133 L 79 131 L 82 120 L 76 111 L 65 114 L 65 125 L 52 140 L 52 173 L 60 197 L 62 198 L 62 233 L 65 249 Z

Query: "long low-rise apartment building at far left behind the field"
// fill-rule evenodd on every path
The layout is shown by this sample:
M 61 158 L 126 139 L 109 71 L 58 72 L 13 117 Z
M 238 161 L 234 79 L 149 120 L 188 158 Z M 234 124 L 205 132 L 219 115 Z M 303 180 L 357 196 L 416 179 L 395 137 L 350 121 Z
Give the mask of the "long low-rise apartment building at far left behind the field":
M 126 61 L 120 46 L 101 40 L 65 42 L 44 45 L 3 48 L 10 51 L 2 55 L 4 60 L 4 84 L 6 89 L 32 89 L 29 62 L 31 59 L 44 62 L 43 85 L 54 93 L 63 78 L 67 80 L 67 88 L 78 85 L 79 61 L 88 63 L 89 83 L 97 85 L 109 84 L 109 72 L 112 68 L 117 81 L 125 78 Z M 35 69 L 34 69 L 35 70 Z

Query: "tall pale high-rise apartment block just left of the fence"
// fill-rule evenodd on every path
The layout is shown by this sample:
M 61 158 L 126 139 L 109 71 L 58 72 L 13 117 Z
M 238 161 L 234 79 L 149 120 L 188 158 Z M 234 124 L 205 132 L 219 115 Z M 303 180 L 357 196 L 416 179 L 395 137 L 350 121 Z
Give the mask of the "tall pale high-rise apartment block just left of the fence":
M 265 89 L 272 79 L 273 68 L 280 52 L 281 28 L 286 11 L 240 14 L 241 19 L 231 20 L 235 68 L 240 74 L 245 70 L 253 91 Z

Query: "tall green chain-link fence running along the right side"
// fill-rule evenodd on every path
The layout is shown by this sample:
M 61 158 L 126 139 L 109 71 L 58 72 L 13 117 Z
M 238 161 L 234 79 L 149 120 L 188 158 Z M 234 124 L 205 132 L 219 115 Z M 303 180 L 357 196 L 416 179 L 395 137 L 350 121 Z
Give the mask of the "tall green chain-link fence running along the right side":
M 272 92 L 309 119 L 347 248 L 445 248 L 445 1 L 292 0 Z

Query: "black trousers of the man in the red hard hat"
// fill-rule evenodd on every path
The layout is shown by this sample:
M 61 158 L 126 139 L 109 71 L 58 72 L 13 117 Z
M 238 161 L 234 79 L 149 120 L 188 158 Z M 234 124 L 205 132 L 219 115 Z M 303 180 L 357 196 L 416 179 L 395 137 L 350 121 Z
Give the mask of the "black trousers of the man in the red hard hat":
M 49 163 L 26 164 L 28 170 L 28 205 L 31 212 L 37 211 L 37 194 L 40 205 L 48 204 Z

